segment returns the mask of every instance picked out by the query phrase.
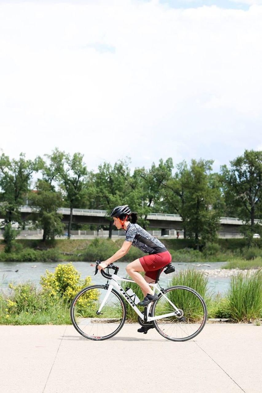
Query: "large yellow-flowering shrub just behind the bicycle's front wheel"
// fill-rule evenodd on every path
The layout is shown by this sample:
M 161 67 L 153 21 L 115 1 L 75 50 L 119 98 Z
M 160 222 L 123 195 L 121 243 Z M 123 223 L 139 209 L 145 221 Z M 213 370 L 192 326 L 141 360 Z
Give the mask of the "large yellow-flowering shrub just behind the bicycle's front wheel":
M 77 292 L 91 284 L 91 277 L 80 278 L 80 273 L 76 270 L 72 262 L 59 263 L 54 273 L 46 270 L 46 274 L 41 276 L 40 284 L 50 301 L 62 298 L 66 303 L 71 302 Z M 89 299 L 90 301 L 93 299 Z

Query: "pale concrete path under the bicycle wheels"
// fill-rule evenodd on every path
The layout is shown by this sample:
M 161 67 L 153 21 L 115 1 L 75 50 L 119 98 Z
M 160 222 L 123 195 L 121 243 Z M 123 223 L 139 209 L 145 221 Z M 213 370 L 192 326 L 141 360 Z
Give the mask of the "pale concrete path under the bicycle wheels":
M 96 342 L 72 326 L 0 326 L 0 392 L 262 392 L 262 326 L 208 324 L 187 342 L 137 328 Z

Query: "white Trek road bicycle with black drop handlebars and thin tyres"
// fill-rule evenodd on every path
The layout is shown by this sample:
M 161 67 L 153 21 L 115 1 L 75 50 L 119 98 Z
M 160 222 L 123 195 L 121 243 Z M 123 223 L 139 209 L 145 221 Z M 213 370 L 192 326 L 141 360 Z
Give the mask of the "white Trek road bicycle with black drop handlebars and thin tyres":
M 95 274 L 99 263 L 100 261 L 96 261 Z M 109 274 L 109 269 L 114 270 L 112 275 Z M 194 289 L 182 285 L 161 288 L 159 276 L 162 270 L 159 270 L 155 284 L 149 284 L 158 294 L 158 299 L 143 307 L 141 312 L 136 306 L 139 302 L 136 294 L 128 288 L 124 290 L 119 284 L 119 281 L 134 281 L 119 277 L 118 269 L 114 264 L 108 265 L 105 270 L 101 270 L 101 274 L 107 279 L 105 285 L 88 286 L 73 299 L 70 317 L 82 336 L 90 340 L 107 340 L 118 333 L 125 323 L 125 301 L 137 313 L 140 325 L 153 325 L 168 340 L 186 341 L 201 332 L 207 320 L 207 307 Z M 164 272 L 168 274 L 174 270 L 170 263 Z

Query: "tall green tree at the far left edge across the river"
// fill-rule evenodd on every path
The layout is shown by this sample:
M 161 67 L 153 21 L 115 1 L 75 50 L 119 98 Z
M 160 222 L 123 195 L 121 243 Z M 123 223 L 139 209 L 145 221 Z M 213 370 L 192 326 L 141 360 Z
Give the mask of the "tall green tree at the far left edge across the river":
M 19 206 L 24 204 L 32 174 L 39 170 L 39 157 L 26 160 L 23 153 L 18 160 L 0 156 L 0 209 L 4 222 L 21 222 Z

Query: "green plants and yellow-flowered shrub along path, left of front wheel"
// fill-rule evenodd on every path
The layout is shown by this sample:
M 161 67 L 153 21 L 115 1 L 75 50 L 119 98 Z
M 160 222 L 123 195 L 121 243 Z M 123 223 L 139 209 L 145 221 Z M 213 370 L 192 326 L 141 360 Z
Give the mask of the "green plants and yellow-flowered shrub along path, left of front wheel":
M 10 284 L 10 293 L 0 293 L 0 324 L 71 323 L 70 303 L 90 281 L 90 277 L 80 279 L 80 273 L 68 263 L 59 264 L 54 273 L 47 270 L 46 275 L 41 276 L 41 290 L 30 281 Z M 97 298 L 96 292 L 83 297 L 82 307 L 89 307 Z

